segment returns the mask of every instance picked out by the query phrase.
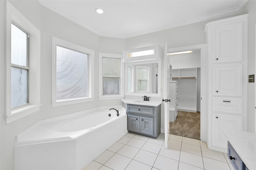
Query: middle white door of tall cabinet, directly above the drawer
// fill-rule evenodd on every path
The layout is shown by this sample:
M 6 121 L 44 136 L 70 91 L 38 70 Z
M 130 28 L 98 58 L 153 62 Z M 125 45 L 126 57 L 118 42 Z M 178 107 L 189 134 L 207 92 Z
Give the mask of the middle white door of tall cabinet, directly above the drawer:
M 212 66 L 212 95 L 242 97 L 242 63 Z

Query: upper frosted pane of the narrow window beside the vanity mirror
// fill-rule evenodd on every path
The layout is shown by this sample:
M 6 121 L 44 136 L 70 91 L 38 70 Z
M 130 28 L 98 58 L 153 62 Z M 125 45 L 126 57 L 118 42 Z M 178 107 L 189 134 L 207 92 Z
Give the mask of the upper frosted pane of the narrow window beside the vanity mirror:
M 103 76 L 120 76 L 120 59 L 102 58 Z

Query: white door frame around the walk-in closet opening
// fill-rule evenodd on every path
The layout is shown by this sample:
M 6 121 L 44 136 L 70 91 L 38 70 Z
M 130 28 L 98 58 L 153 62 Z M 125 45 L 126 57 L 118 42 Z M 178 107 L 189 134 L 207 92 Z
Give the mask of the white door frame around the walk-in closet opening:
M 198 45 L 190 45 L 190 46 L 184 46 L 184 47 L 176 47 L 176 48 L 169 48 L 168 53 L 174 53 L 179 51 L 189 51 L 189 50 L 196 50 L 199 49 L 200 52 L 200 66 L 201 66 L 201 104 L 200 104 L 200 139 L 203 142 L 208 142 L 208 115 L 207 115 L 207 109 L 208 109 L 208 85 L 207 85 L 207 54 L 206 54 L 206 44 L 198 44 Z

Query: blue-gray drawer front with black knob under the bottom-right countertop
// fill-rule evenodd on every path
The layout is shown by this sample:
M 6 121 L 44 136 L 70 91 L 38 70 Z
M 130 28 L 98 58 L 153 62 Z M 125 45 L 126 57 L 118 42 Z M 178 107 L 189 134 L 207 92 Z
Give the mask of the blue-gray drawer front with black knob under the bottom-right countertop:
M 228 158 L 235 170 L 245 170 L 245 164 L 228 141 Z

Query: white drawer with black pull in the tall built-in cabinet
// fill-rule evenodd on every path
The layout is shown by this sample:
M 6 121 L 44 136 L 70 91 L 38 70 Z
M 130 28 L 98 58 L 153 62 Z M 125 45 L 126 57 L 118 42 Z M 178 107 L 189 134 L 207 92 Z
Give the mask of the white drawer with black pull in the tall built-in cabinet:
M 242 114 L 243 99 L 232 97 L 212 97 L 212 111 Z

